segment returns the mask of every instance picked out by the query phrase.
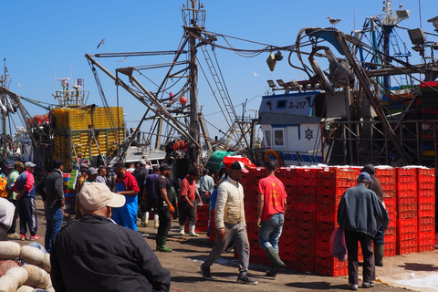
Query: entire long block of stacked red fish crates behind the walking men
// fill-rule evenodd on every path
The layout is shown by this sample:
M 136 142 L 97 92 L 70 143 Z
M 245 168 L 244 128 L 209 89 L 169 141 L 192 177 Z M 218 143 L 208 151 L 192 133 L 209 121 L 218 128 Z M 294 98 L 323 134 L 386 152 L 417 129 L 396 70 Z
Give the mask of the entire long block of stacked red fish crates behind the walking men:
M 329 240 L 338 227 L 340 199 L 349 187 L 357 185 L 359 172 L 360 167 L 277 168 L 276 177 L 285 184 L 288 195 L 283 234 L 279 239 L 279 255 L 286 268 L 321 276 L 348 274 L 347 262 L 331 256 Z M 433 250 L 434 172 L 433 169 L 376 167 L 390 217 L 384 238 L 385 256 Z M 240 183 L 245 192 L 250 261 L 268 266 L 255 226 L 258 182 L 265 176 L 264 168 L 252 168 Z M 214 240 L 214 227 L 211 228 L 210 239 Z M 359 260 L 363 260 L 361 253 Z

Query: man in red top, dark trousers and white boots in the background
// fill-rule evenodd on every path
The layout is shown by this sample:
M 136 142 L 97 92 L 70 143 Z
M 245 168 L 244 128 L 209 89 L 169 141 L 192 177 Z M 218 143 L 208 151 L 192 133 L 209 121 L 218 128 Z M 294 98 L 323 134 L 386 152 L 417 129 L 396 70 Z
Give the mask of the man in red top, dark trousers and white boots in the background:
M 183 179 L 183 182 L 181 183 L 180 195 L 178 197 L 180 235 L 185 235 L 184 225 L 187 218 L 189 218 L 189 235 L 199 236 L 198 234 L 194 233 L 194 226 L 196 225 L 196 206 L 197 206 L 196 178 L 197 177 L 198 177 L 198 170 L 193 168 L 192 170 L 190 170 L 189 174 L 187 174 L 187 176 Z M 201 197 L 199 199 L 201 199 Z

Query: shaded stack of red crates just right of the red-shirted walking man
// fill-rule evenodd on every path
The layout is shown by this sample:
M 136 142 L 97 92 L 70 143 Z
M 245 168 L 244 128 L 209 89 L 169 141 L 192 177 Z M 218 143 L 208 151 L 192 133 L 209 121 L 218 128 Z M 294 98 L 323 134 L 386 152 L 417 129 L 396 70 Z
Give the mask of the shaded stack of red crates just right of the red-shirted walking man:
M 295 269 L 299 272 L 313 272 L 315 265 L 317 173 L 316 168 L 297 169 Z

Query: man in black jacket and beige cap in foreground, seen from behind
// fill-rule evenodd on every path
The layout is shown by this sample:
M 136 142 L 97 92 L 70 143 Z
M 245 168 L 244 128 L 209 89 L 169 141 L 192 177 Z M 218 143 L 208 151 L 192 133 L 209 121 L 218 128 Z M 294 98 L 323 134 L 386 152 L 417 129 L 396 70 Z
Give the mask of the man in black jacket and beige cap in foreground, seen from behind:
M 61 229 L 50 255 L 57 292 L 169 291 L 170 273 L 141 234 L 109 219 L 125 200 L 103 183 L 84 183 L 82 216 Z

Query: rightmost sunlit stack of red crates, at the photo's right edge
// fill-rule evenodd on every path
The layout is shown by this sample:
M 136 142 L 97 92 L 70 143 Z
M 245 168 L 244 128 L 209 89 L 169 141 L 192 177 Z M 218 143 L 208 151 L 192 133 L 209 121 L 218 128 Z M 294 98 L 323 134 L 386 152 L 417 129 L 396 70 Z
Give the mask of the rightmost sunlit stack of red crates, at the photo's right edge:
M 435 170 L 417 169 L 418 252 L 435 249 Z

